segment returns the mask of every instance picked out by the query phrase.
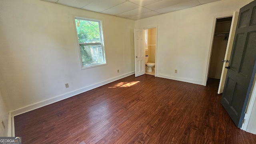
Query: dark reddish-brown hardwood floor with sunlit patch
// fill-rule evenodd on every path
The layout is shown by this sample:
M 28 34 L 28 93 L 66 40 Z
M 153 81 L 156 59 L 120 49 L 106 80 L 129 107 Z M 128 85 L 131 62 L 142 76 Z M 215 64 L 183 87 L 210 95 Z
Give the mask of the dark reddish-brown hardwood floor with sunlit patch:
M 22 144 L 256 144 L 207 86 L 143 75 L 14 117 Z

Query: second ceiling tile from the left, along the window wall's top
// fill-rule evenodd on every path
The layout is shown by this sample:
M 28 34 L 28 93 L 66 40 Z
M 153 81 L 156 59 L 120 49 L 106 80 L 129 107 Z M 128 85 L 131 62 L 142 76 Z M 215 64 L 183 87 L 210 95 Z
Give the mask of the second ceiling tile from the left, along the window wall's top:
M 82 8 L 93 0 L 59 0 L 57 3 Z

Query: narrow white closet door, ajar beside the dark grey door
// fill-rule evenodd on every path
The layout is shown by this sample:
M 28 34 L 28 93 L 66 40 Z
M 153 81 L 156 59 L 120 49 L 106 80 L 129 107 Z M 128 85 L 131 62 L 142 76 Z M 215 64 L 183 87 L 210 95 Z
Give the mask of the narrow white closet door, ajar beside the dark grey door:
M 226 69 L 225 67 L 228 66 L 228 63 L 230 60 L 230 54 L 231 54 L 231 50 L 232 50 L 232 46 L 233 46 L 233 41 L 234 41 L 235 32 L 236 32 L 236 25 L 237 25 L 237 21 L 238 21 L 238 14 L 239 14 L 239 12 L 233 13 L 233 18 L 232 18 L 232 22 L 231 22 L 229 37 L 228 37 L 228 44 L 227 44 L 227 48 L 226 48 L 226 54 L 225 54 L 225 58 L 224 58 L 223 66 L 222 66 L 222 72 L 221 72 L 221 76 L 220 76 L 220 85 L 219 85 L 219 89 L 218 89 L 218 94 L 221 94 L 224 90 L 224 84 L 225 84 L 226 75 L 227 75 L 227 71 L 228 71 L 228 69 Z

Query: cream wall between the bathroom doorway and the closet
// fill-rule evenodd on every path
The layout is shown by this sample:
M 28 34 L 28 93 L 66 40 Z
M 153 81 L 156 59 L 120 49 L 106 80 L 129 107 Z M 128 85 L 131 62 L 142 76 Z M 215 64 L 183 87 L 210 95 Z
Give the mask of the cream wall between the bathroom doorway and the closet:
M 136 28 L 158 26 L 156 76 L 204 85 L 215 17 L 232 16 L 251 1 L 220 0 L 136 20 Z

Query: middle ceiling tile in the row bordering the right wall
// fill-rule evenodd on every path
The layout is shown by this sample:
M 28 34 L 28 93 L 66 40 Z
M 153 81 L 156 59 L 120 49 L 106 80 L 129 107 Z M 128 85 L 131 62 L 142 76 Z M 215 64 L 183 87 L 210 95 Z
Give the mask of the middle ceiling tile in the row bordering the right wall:
M 161 8 L 161 9 L 155 10 L 155 11 L 159 12 L 159 13 L 162 13 L 162 14 L 165 14 L 165 13 L 168 13 L 168 12 L 183 10 L 183 9 L 186 9 L 186 8 L 191 8 L 191 7 L 199 6 L 199 5 L 200 5 L 200 3 L 197 0 L 190 0 L 188 2 L 183 2 L 181 4 L 176 4 L 174 6 L 168 6 L 166 8 Z

